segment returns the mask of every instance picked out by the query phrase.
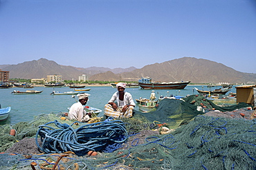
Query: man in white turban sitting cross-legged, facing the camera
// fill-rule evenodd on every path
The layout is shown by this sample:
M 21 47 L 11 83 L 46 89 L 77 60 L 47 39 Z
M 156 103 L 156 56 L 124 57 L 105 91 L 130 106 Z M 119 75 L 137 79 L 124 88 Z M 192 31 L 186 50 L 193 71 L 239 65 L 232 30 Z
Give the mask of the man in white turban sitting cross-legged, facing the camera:
M 113 118 L 130 118 L 133 116 L 134 100 L 129 92 L 125 92 L 125 83 L 118 83 L 116 87 L 118 92 L 115 92 L 105 105 L 104 115 Z

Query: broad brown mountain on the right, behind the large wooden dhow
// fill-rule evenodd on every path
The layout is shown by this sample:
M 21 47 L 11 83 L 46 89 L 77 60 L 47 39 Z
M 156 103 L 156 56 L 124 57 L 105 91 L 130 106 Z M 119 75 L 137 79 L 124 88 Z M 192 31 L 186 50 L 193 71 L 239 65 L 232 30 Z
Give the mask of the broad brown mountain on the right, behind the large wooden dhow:
M 97 75 L 98 80 L 107 81 L 108 77 L 100 75 Z M 152 81 L 164 82 L 256 83 L 256 74 L 238 72 L 221 63 L 205 59 L 196 59 L 193 57 L 183 57 L 181 59 L 174 59 L 163 63 L 146 65 L 141 69 L 121 73 L 119 80 L 138 81 L 138 79 L 143 76 L 151 77 Z

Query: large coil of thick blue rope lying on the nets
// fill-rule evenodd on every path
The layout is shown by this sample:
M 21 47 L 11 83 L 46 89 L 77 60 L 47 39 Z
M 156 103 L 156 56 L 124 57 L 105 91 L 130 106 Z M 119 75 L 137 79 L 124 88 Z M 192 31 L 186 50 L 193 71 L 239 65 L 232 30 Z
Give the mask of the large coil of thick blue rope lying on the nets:
M 58 128 L 49 126 L 53 123 Z M 84 156 L 88 151 L 102 151 L 109 145 L 122 144 L 129 137 L 122 120 L 105 120 L 77 129 L 72 125 L 61 124 L 57 120 L 40 125 L 35 137 L 37 147 L 45 153 L 73 151 L 77 156 Z M 37 141 L 38 136 L 42 146 Z

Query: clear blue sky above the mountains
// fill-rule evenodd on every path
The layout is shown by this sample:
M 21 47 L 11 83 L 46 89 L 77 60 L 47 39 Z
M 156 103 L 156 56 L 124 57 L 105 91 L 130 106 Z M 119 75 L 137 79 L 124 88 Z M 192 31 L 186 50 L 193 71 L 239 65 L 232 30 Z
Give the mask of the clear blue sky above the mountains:
M 256 73 L 256 1 L 0 0 L 0 65 L 141 68 L 183 56 Z

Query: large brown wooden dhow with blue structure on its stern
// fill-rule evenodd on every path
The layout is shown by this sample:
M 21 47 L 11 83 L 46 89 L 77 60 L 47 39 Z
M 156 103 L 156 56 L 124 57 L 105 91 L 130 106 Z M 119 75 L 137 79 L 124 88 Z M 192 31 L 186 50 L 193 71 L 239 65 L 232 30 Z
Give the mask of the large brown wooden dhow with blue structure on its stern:
M 138 81 L 141 89 L 184 89 L 190 81 L 181 82 L 152 82 L 150 77 L 143 77 Z

